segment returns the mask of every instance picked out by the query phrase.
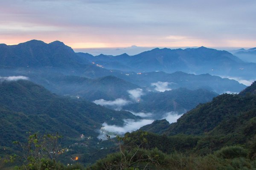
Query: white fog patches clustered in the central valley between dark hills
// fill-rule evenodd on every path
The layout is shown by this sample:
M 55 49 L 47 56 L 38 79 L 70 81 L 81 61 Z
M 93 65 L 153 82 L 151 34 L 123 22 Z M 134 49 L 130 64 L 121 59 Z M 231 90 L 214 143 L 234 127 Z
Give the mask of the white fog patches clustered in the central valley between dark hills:
M 172 90 L 168 87 L 168 82 L 156 82 L 152 83 L 152 86 L 155 86 L 156 91 L 166 91 L 166 90 Z M 130 99 L 115 99 L 112 101 L 99 99 L 93 101 L 97 105 L 104 105 L 104 106 L 111 106 L 111 108 L 115 110 L 122 110 L 122 107 L 125 105 L 129 105 L 134 102 L 138 102 L 140 100 L 140 97 L 143 96 L 145 93 L 143 92 L 143 89 L 137 88 L 134 90 L 127 91 L 129 94 Z M 129 110 L 127 110 L 129 111 Z M 145 112 L 133 112 L 129 111 L 132 114 L 136 116 L 140 116 L 141 119 L 124 119 L 124 125 L 123 126 L 117 126 L 117 125 L 108 125 L 106 122 L 102 124 L 102 127 L 99 129 L 99 139 L 106 139 L 106 135 L 110 135 L 112 137 L 116 135 L 123 135 L 126 132 L 131 132 L 140 129 L 140 127 L 143 127 L 145 125 L 151 124 L 154 122 L 157 113 L 145 113 Z M 166 119 L 169 123 L 176 122 L 177 119 L 182 115 L 178 114 L 177 112 L 166 112 L 162 113 L 162 117 L 159 119 Z

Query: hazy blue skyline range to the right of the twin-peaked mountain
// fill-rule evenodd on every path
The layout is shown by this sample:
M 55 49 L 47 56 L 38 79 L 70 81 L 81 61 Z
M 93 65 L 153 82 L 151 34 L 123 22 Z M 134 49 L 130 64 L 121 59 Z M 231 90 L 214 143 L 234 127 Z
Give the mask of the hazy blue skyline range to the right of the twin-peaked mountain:
M 164 71 L 172 73 L 183 71 L 195 74 L 213 74 L 236 77 L 255 78 L 250 75 L 256 71 L 256 64 L 245 63 L 227 51 L 218 51 L 211 48 L 169 49 L 155 48 L 151 51 L 128 56 L 99 55 L 77 53 L 81 58 L 102 65 L 104 68 L 122 71 L 151 72 Z

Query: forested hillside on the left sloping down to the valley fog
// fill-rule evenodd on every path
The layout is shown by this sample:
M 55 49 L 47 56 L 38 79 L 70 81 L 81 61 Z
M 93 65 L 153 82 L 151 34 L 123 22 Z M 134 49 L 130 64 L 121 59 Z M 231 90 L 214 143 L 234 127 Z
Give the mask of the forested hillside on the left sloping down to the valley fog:
M 50 93 L 26 80 L 0 83 L 0 144 L 24 140 L 27 131 L 59 132 L 66 138 L 98 135 L 103 122 L 122 125 L 122 119 L 135 118 L 125 111 L 110 109 Z

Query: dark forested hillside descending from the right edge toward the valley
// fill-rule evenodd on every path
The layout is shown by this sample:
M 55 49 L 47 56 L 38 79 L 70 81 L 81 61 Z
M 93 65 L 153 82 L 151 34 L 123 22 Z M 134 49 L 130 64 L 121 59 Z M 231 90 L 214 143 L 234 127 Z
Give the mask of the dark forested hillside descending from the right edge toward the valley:
M 198 105 L 195 109 L 183 114 L 163 133 L 167 135 L 180 133 L 186 135 L 204 135 L 205 133 L 227 135 L 234 133 L 240 135 L 236 141 L 244 142 L 255 132 L 255 127 L 253 127 L 256 116 L 255 83 L 240 94 L 222 94 L 213 98 L 212 102 Z M 152 129 L 151 126 L 148 127 Z M 241 136 L 247 137 L 242 139 Z

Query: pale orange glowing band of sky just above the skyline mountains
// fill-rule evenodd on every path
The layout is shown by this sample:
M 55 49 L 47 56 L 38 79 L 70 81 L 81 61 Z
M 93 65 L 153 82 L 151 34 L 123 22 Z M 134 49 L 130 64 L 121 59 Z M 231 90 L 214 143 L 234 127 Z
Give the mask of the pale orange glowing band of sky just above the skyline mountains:
M 53 39 L 40 39 L 40 38 L 18 38 L 18 39 L 0 39 L 0 43 L 4 43 L 7 45 L 17 45 L 22 42 L 27 42 L 29 40 L 42 40 L 46 43 L 50 43 L 56 40 Z M 177 38 L 175 37 L 175 40 Z M 61 38 L 59 41 L 64 42 L 64 44 L 70 46 L 73 49 L 79 49 L 79 48 L 128 48 L 132 45 L 136 45 L 138 47 L 148 47 L 148 48 L 155 48 L 155 47 L 167 47 L 167 48 L 182 48 L 182 47 L 200 47 L 205 46 L 208 48 L 220 48 L 220 47 L 230 47 L 230 48 L 253 48 L 256 46 L 256 41 L 253 40 L 222 40 L 220 43 L 215 44 L 204 40 L 177 40 L 177 41 L 171 41 L 171 42 L 161 42 L 161 40 L 157 41 L 151 41 L 151 42 L 143 42 L 142 40 L 136 42 L 134 40 L 134 43 L 116 43 L 116 42 L 74 42 L 75 40 L 65 40 L 64 38 Z

